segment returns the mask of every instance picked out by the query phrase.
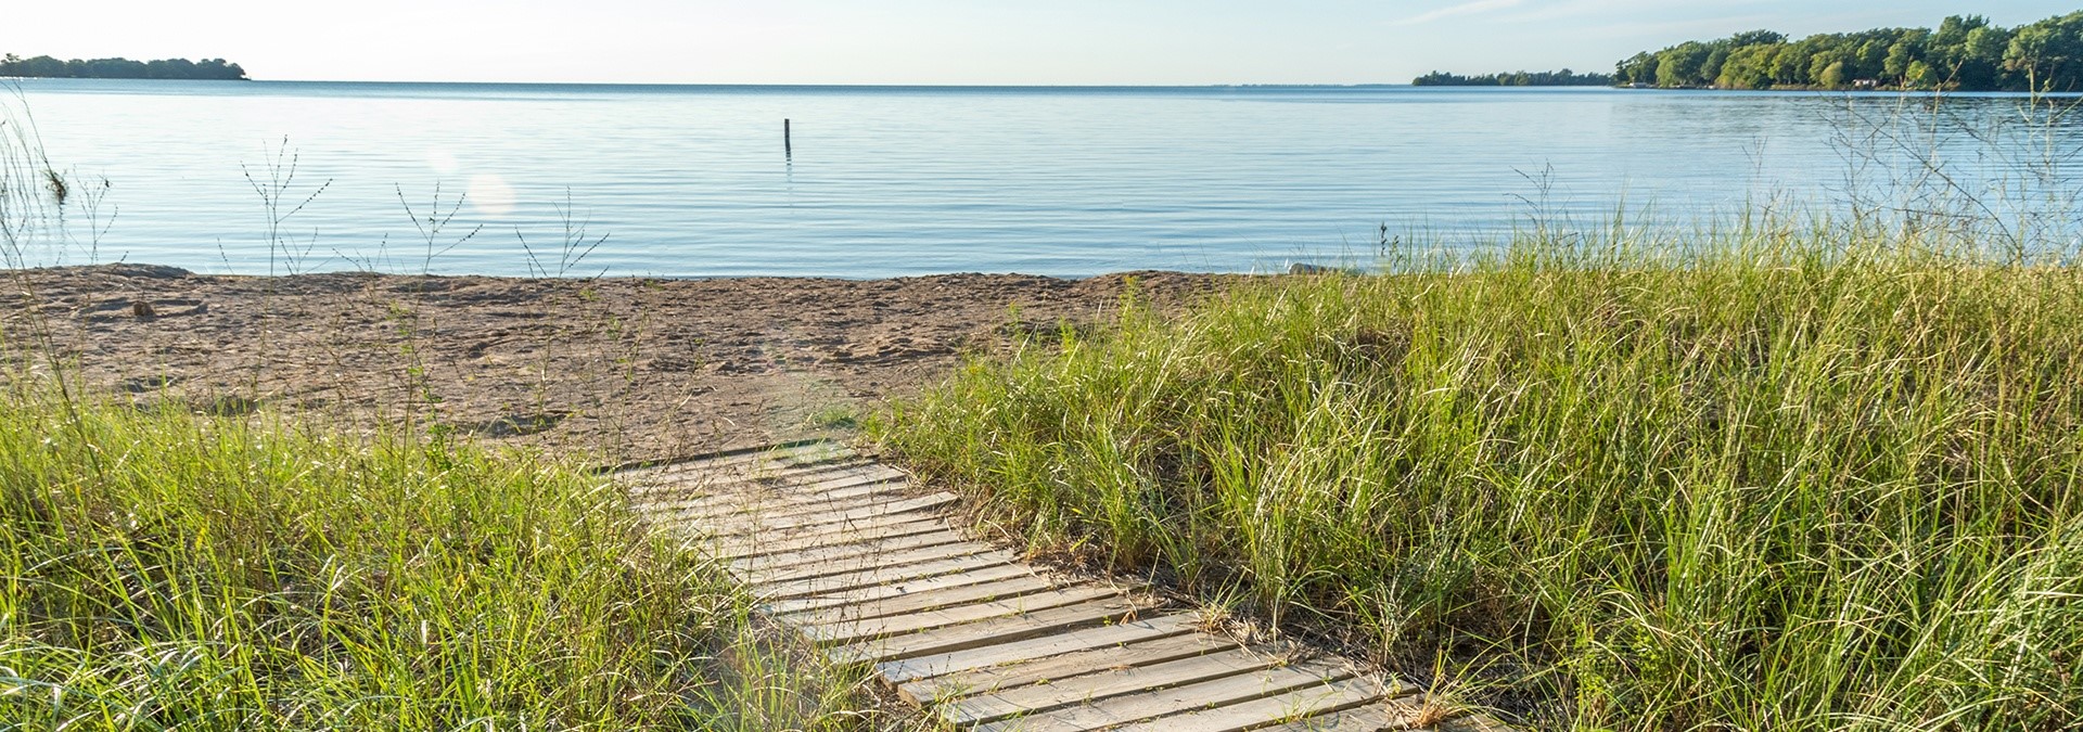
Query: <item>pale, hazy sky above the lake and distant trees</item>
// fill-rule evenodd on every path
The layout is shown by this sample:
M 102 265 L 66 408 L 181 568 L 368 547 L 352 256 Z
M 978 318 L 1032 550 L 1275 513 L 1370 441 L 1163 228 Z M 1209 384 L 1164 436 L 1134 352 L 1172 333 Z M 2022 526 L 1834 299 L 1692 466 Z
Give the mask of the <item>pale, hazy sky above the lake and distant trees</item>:
M 1610 71 L 1637 50 L 2021 25 L 2043 0 L 96 0 L 19 2 L 0 52 L 227 58 L 254 79 L 589 83 L 1408 83 Z

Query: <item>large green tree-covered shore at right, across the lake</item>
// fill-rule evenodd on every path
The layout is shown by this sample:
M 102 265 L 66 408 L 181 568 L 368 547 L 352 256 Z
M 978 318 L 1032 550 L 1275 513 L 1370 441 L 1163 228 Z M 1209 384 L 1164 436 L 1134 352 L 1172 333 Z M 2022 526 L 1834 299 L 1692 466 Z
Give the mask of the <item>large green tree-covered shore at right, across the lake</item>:
M 2083 10 L 2000 27 L 1956 15 L 1937 29 L 1883 27 L 1787 40 L 1748 31 L 1639 52 L 1621 85 L 1718 89 L 2083 92 Z

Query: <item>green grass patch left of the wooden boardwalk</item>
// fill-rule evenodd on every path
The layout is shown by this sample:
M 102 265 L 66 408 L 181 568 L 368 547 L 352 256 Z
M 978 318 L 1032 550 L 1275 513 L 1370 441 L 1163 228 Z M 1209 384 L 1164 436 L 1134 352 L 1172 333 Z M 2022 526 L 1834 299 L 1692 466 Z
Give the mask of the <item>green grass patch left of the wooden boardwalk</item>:
M 0 728 L 839 728 L 606 478 L 0 381 Z

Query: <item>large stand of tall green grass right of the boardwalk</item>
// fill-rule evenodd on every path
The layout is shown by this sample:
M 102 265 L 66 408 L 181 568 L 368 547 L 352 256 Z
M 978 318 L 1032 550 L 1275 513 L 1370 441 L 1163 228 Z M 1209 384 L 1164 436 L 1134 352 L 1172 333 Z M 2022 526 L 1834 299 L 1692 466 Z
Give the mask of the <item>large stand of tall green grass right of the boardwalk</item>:
M 2083 272 L 1593 239 L 1129 308 L 873 428 L 1037 547 L 1537 726 L 2083 726 Z

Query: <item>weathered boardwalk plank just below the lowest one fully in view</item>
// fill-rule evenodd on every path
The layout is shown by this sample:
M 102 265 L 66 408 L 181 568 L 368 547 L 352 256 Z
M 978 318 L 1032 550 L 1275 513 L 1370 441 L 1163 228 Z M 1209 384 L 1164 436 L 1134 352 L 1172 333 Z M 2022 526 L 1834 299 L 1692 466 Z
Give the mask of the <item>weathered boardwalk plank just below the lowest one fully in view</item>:
M 1352 678 L 1339 665 L 1298 663 L 1271 668 L 1241 676 L 1225 676 L 1200 684 L 1139 690 L 1094 703 L 1052 709 L 1048 713 L 979 724 L 979 732 L 1085 732 L 1141 722 L 1158 715 L 1229 707 L 1244 701 L 1283 695 L 1289 690 L 1323 688 L 1329 682 Z M 1162 728 L 1169 730 L 1169 728 Z

